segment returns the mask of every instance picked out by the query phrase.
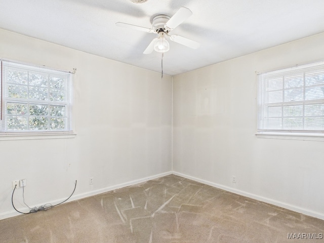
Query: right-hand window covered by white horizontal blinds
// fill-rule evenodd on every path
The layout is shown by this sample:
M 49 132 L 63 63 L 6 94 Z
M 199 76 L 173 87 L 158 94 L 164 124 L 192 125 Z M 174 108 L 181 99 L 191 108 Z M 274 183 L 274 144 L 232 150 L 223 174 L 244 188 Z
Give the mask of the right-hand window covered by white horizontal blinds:
M 324 133 L 324 62 L 258 74 L 258 133 Z

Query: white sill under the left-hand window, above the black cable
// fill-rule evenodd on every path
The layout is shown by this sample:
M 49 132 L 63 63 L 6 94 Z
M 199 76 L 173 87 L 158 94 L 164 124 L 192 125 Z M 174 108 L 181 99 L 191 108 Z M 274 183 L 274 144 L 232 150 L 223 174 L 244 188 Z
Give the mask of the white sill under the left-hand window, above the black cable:
M 75 138 L 73 132 L 47 132 L 47 133 L 1 133 L 0 141 L 3 140 L 30 140 L 30 139 L 58 139 L 58 138 Z

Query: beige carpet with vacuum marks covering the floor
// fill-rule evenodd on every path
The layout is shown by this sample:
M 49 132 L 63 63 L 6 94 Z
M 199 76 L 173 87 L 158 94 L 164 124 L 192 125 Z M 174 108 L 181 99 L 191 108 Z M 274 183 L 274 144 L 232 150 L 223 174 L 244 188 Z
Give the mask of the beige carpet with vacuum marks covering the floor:
M 175 175 L 0 221 L 2 243 L 324 242 L 322 234 L 322 220 Z

